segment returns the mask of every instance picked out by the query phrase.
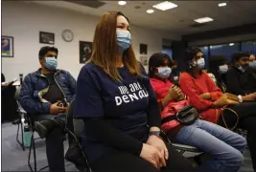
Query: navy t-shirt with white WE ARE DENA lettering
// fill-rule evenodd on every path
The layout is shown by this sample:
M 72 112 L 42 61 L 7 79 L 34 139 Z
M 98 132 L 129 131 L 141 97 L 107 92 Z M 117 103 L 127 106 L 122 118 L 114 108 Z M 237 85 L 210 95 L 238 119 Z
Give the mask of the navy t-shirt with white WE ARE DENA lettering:
M 99 67 L 86 64 L 77 81 L 74 118 L 104 118 L 114 128 L 144 142 L 149 136 L 149 101 L 155 96 L 136 76 L 130 75 L 126 67 L 120 68 L 119 74 L 124 81 L 117 83 Z M 86 131 L 82 145 L 86 147 L 89 161 L 97 160 L 112 149 Z

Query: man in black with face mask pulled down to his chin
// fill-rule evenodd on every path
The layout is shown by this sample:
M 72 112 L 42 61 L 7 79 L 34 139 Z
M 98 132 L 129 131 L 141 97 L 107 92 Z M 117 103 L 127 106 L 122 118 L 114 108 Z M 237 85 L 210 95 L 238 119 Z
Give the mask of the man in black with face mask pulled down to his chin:
M 233 67 L 226 73 L 226 92 L 238 96 L 256 98 L 256 77 L 248 68 L 249 54 L 232 54 Z M 251 99 L 251 100 L 252 100 Z

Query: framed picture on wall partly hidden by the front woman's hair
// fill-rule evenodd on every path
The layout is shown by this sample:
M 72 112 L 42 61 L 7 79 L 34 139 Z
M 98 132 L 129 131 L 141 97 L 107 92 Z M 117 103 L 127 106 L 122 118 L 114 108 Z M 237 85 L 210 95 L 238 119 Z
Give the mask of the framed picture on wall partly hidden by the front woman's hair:
M 80 63 L 85 63 L 92 54 L 92 42 L 80 41 Z

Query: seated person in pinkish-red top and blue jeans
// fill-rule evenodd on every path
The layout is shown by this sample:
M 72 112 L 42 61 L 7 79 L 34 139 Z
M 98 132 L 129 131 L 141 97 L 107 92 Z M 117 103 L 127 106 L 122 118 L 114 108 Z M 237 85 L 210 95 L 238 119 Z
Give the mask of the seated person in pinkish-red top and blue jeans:
M 202 171 L 238 171 L 246 142 L 240 135 L 201 119 L 191 125 L 181 125 L 177 120 L 163 122 L 163 118 L 175 115 L 173 109 L 178 111 L 189 104 L 180 89 L 168 79 L 172 73 L 169 58 L 167 54 L 152 54 L 149 62 L 151 85 L 162 106 L 162 129 L 169 137 L 212 155 L 212 160 L 201 165 Z

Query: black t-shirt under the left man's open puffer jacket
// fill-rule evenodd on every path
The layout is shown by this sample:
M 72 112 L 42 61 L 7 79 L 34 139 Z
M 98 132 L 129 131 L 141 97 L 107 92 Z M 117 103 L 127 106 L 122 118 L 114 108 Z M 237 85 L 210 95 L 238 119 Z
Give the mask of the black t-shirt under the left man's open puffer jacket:
M 64 98 L 61 90 L 58 87 L 58 84 L 55 80 L 55 73 L 50 74 L 44 74 L 49 82 L 49 90 L 48 92 L 43 96 L 44 99 L 51 102 L 52 104 L 56 103 L 58 100 L 61 100 Z

